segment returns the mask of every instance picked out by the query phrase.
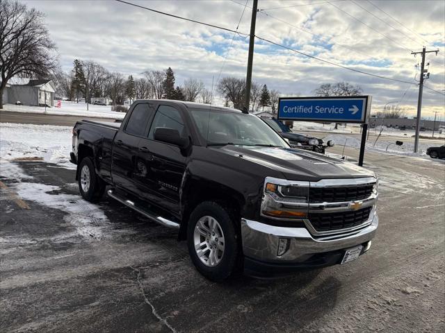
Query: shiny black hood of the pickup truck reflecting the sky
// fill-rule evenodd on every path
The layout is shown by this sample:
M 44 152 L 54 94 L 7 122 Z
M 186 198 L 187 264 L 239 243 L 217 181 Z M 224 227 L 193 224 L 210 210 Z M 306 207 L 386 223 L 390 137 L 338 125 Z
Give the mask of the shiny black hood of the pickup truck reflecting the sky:
M 288 180 L 316 182 L 323 178 L 375 177 L 373 171 L 356 164 L 296 148 L 223 146 L 212 149 L 280 171 Z

